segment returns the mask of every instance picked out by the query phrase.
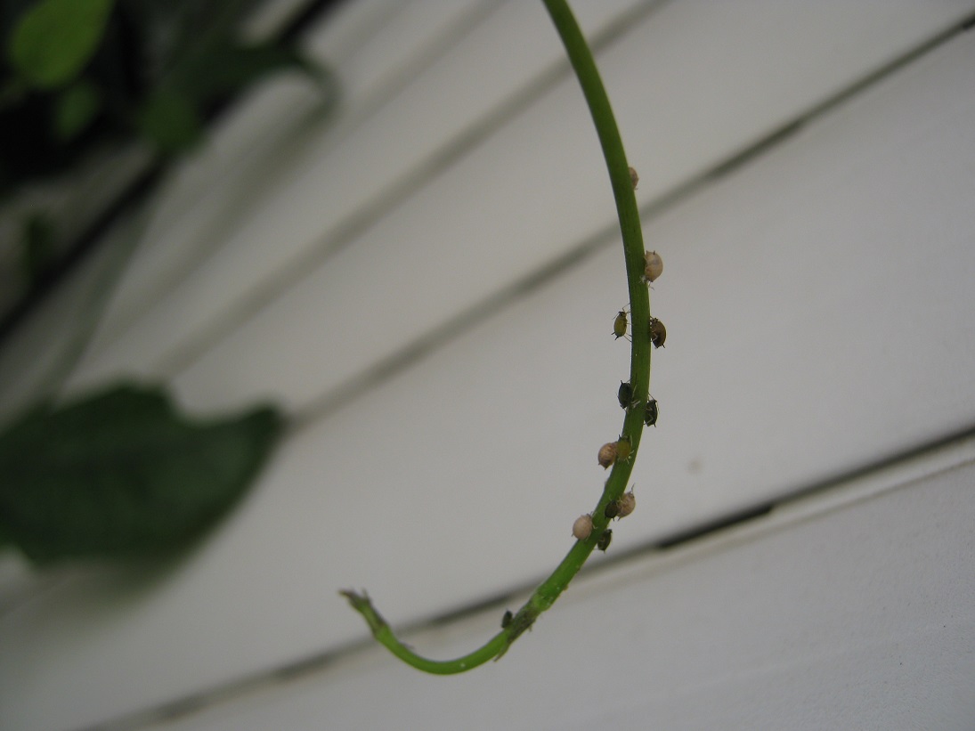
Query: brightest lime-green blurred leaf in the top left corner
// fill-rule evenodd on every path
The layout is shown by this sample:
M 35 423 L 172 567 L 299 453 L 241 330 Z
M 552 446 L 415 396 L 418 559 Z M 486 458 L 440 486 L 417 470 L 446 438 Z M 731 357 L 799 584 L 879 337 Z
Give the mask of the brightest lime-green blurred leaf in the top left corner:
M 111 9 L 112 0 L 40 0 L 20 17 L 7 59 L 29 84 L 59 87 L 95 54 Z

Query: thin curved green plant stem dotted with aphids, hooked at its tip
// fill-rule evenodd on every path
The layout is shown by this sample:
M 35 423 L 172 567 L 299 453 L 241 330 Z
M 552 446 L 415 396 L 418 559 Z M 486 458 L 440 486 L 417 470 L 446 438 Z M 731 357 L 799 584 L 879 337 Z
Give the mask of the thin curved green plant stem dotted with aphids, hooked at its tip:
M 596 125 L 596 131 L 603 147 L 606 169 L 616 199 L 616 212 L 619 216 L 623 250 L 626 258 L 627 286 L 630 291 L 630 308 L 633 324 L 633 343 L 630 361 L 630 383 L 633 386 L 636 404 L 627 409 L 623 420 L 622 436 L 633 444 L 633 451 L 627 461 L 613 465 L 609 479 L 605 483 L 603 495 L 593 511 L 593 532 L 589 538 L 576 541 L 555 571 L 542 582 L 528 598 L 525 605 L 514 615 L 511 622 L 486 644 L 474 652 L 454 660 L 429 660 L 415 654 L 393 635 L 389 625 L 373 608 L 369 596 L 355 592 L 341 592 L 352 607 L 361 613 L 370 626 L 372 635 L 390 652 L 417 670 L 426 673 L 453 674 L 464 673 L 483 665 L 490 659 L 500 658 L 511 644 L 524 633 L 538 616 L 552 606 L 565 591 L 565 587 L 579 572 L 596 547 L 609 519 L 605 517 L 605 507 L 619 499 L 630 481 L 637 450 L 643 436 L 643 408 L 649 393 L 650 380 L 650 300 L 643 283 L 643 232 L 640 227 L 640 212 L 637 198 L 633 192 L 626 153 L 616 127 L 609 98 L 606 96 L 603 81 L 596 68 L 596 61 L 572 16 L 565 0 L 543 0 L 549 15 L 562 37 L 565 51 L 578 77 L 586 103 Z

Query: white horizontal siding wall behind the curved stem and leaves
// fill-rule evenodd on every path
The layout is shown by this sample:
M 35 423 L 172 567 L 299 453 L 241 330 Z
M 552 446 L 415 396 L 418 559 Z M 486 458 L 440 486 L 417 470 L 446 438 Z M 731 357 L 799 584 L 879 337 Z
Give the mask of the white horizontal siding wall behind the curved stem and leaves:
M 540 3 L 358 0 L 309 41 L 337 115 L 282 79 L 221 124 L 116 234 L 138 248 L 65 386 L 166 378 L 300 427 L 192 556 L 8 561 L 0 727 L 975 725 L 975 35 L 952 32 L 975 4 L 575 5 L 667 267 L 659 427 L 608 556 L 462 678 L 400 667 L 335 595 L 421 625 L 543 576 L 629 358 L 604 164 Z M 0 353 L 6 413 L 105 266 Z M 410 641 L 466 651 L 517 600 Z

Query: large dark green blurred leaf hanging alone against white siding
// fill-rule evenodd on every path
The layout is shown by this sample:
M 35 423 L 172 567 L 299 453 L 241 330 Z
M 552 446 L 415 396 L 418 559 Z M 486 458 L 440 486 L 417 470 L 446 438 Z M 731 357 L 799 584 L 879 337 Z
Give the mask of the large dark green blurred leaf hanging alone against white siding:
M 121 385 L 0 434 L 0 536 L 37 562 L 176 549 L 237 501 L 282 426 L 268 407 L 202 421 Z

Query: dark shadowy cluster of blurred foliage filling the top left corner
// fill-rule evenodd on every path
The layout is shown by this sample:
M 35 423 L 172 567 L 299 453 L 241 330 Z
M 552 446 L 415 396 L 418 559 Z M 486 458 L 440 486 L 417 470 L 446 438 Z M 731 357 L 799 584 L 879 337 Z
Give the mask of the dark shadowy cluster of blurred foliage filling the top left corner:
M 331 76 L 293 43 L 240 40 L 254 0 L 0 0 L 0 197 L 140 137 L 171 155 L 267 74 Z

